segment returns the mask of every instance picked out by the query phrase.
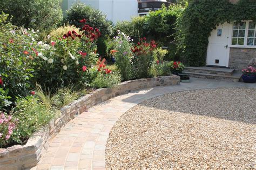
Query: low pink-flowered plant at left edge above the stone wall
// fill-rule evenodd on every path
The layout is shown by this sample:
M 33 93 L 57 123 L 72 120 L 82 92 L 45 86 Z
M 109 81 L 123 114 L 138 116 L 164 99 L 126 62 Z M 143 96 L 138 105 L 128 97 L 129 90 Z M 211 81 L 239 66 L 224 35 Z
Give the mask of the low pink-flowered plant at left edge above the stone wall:
M 3 112 L 0 114 L 0 147 L 8 144 L 12 132 L 15 130 L 18 120 L 6 115 Z

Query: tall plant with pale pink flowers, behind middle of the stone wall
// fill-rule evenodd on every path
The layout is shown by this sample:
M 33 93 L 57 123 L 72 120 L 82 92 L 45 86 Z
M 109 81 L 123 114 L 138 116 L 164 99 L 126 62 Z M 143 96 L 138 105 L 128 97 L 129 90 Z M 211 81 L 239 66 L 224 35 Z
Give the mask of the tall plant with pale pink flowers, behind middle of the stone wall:
M 124 33 L 118 32 L 118 36 L 113 38 L 113 49 L 110 52 L 116 58 L 115 65 L 118 72 L 122 76 L 122 80 L 130 80 L 134 78 L 134 70 L 131 64 L 132 60 L 132 44 L 130 37 Z

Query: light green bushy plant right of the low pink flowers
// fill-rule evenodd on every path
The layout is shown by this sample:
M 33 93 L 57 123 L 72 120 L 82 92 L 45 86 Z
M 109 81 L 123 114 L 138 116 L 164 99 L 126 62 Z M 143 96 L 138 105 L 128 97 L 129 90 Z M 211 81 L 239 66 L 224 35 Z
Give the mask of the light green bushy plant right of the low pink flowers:
M 17 100 L 13 115 L 18 124 L 10 142 L 24 144 L 34 132 L 49 123 L 56 111 L 50 110 L 38 98 L 28 96 Z

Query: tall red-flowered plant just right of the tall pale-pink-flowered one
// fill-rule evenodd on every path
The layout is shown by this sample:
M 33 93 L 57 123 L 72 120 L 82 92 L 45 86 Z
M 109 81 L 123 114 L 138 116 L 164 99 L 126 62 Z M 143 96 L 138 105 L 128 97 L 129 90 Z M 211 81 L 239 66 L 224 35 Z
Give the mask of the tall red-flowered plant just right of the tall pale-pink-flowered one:
M 153 62 L 153 50 L 157 48 L 156 42 L 152 40 L 146 42 L 146 38 L 140 38 L 137 45 L 134 45 L 131 50 L 133 52 L 132 65 L 136 70 L 136 78 L 144 78 L 149 76 L 150 67 Z

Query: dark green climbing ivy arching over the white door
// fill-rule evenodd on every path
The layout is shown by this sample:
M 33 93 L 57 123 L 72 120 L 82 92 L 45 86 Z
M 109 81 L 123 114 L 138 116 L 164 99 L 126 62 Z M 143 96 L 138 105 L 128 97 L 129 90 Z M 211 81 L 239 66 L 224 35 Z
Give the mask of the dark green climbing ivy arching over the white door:
M 256 1 L 198 0 L 190 3 L 177 19 L 178 49 L 186 65 L 204 66 L 208 37 L 216 25 L 241 20 L 256 21 Z

